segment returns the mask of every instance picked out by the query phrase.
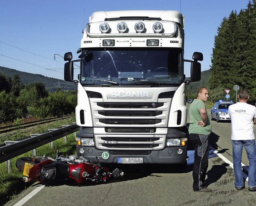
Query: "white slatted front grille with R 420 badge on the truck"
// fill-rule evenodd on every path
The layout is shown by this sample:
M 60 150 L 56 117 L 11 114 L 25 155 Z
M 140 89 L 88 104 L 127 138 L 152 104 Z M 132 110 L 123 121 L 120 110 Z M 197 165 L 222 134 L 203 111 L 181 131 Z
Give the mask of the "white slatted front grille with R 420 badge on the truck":
M 135 151 L 143 153 L 165 147 L 171 98 L 160 98 L 156 102 L 89 100 L 98 149 L 132 149 L 134 154 Z

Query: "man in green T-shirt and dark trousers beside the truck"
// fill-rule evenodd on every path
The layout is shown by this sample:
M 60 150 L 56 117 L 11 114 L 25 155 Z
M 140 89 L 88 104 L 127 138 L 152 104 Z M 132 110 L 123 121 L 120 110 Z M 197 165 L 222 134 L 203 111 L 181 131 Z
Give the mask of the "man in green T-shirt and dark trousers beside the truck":
M 208 99 L 208 89 L 198 89 L 198 96 L 189 108 L 189 138 L 195 148 L 193 167 L 193 190 L 195 192 L 211 192 L 205 184 L 209 156 L 209 135 L 212 131 L 211 121 L 204 102 Z

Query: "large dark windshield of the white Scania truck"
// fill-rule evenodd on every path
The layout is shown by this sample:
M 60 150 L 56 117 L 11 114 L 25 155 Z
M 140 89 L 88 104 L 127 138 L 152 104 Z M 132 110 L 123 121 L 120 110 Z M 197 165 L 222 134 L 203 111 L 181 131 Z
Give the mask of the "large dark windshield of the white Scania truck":
M 83 49 L 82 85 L 177 85 L 182 83 L 182 50 L 178 48 Z

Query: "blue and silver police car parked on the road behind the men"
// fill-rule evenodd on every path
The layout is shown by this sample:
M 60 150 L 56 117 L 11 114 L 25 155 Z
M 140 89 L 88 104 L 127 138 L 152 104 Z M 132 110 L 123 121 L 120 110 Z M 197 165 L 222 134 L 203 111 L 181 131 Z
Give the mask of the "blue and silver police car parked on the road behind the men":
M 228 114 L 228 107 L 234 104 L 232 100 L 219 100 L 211 109 L 211 120 L 216 122 L 231 120 Z

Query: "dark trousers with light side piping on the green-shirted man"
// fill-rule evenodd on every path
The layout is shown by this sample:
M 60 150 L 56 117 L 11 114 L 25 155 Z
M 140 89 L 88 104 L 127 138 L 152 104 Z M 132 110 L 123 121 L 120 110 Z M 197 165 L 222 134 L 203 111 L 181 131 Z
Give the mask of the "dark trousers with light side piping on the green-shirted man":
M 193 190 L 202 190 L 205 187 L 205 177 L 208 168 L 209 136 L 190 134 L 190 141 L 195 148 L 193 167 Z

